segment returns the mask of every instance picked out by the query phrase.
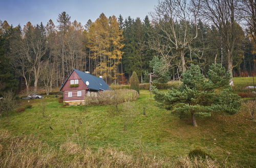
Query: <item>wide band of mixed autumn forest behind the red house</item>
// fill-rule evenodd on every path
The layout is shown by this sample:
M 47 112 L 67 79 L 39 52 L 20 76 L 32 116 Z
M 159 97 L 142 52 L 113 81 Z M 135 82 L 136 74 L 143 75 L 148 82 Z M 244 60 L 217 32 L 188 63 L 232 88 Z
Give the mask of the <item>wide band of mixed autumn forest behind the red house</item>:
M 159 81 L 180 79 L 191 64 L 203 73 L 220 63 L 233 76 L 253 75 L 254 11 L 252 1 L 163 0 L 143 19 L 102 13 L 83 25 L 62 12 L 46 25 L 1 21 L 1 92 L 18 83 L 51 92 L 74 68 L 109 84 L 125 83 L 133 71 L 140 82 L 150 72 L 164 78 Z

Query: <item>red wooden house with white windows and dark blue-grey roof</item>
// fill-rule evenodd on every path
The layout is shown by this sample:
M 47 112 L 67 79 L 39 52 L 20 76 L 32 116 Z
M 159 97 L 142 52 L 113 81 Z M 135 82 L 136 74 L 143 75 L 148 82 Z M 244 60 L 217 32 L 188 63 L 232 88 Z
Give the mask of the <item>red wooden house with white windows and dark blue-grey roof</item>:
M 84 105 L 86 95 L 97 96 L 97 92 L 108 89 L 109 86 L 101 77 L 73 69 L 60 91 L 63 92 L 63 103 Z

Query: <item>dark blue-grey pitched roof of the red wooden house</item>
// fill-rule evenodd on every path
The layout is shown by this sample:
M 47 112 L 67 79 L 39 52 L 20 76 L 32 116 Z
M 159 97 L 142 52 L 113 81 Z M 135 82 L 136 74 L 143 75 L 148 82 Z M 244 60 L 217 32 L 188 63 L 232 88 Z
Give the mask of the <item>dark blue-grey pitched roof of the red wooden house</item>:
M 80 76 L 80 78 L 84 83 L 86 83 L 86 81 L 89 81 L 89 85 L 87 86 L 89 89 L 96 90 L 96 91 L 100 91 L 100 90 L 104 91 L 109 89 L 108 84 L 106 84 L 106 82 L 102 78 L 94 76 L 90 73 L 84 73 L 77 69 L 73 69 L 73 71 L 75 71 L 78 74 L 78 76 Z

